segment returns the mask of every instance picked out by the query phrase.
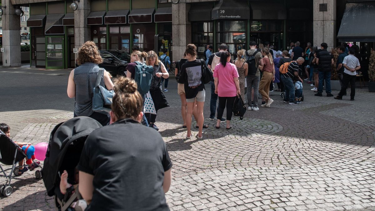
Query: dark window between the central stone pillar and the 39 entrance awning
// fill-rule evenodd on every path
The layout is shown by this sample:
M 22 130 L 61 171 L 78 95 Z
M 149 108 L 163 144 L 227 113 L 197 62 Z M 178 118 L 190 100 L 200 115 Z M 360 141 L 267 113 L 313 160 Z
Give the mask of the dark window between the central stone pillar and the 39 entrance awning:
M 198 48 L 198 57 L 204 58 L 207 45 L 213 45 L 213 22 L 192 23 L 192 41 Z

